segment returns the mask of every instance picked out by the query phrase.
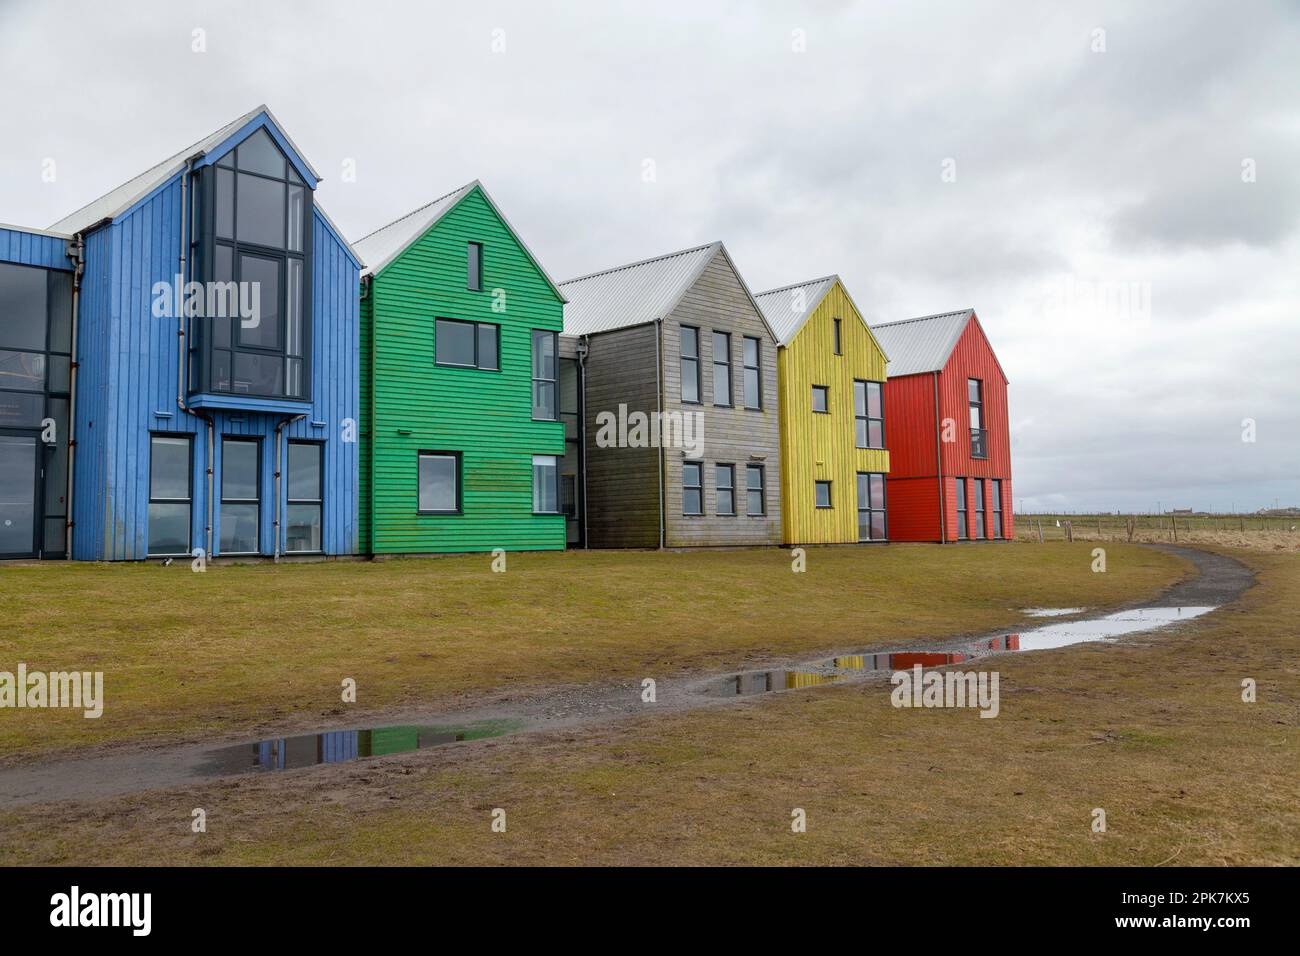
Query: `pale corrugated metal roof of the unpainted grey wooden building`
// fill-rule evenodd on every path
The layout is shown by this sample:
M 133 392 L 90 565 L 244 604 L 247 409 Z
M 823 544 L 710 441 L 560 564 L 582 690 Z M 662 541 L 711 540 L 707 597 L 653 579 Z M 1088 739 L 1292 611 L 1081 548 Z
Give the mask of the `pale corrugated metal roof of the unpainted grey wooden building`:
M 568 298 L 564 333 L 588 336 L 663 319 L 722 247 L 710 242 L 560 282 Z

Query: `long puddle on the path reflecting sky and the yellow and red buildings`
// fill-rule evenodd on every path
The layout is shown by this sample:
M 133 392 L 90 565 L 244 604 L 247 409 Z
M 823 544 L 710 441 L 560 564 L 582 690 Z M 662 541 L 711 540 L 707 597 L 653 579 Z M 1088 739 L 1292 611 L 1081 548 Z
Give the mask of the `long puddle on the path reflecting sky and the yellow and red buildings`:
M 1083 607 L 1044 607 L 1050 611 L 1044 617 L 1074 614 Z M 850 674 L 893 672 L 913 667 L 944 667 L 953 663 L 975 661 L 989 654 L 1004 654 L 1017 650 L 1050 650 L 1071 644 L 1088 641 L 1108 641 L 1139 631 L 1152 631 L 1167 627 L 1180 620 L 1191 620 L 1214 610 L 1213 607 L 1140 607 L 1131 611 L 1118 611 L 1088 620 L 1070 620 L 1061 624 L 1046 624 L 1022 633 L 1009 633 L 968 644 L 954 644 L 944 650 L 896 650 L 880 654 L 845 654 L 810 665 L 802 671 L 759 671 L 737 674 L 715 680 L 702 689 L 707 695 L 745 696 L 768 691 L 789 691 L 798 687 L 831 684 Z M 1027 611 L 1028 613 L 1028 611 Z

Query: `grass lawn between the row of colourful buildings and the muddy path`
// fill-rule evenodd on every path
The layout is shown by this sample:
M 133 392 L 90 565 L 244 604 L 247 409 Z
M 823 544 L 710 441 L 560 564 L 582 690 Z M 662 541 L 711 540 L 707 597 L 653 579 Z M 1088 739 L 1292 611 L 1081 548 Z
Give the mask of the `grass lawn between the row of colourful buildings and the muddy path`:
M 1017 544 L 810 549 L 802 574 L 776 549 L 511 554 L 504 574 L 490 555 L 9 567 L 0 670 L 104 671 L 105 706 L 0 710 L 0 761 L 984 631 L 1027 606 L 1145 597 L 1186 570 L 1112 546 L 1092 574 L 1080 545 Z

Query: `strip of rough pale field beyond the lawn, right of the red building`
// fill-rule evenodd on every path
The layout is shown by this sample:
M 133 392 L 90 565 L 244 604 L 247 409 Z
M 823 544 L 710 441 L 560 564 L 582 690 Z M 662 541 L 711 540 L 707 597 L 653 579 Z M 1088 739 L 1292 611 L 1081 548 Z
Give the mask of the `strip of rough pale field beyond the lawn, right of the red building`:
M 1128 541 L 1128 522 L 1134 541 L 1162 541 L 1191 545 L 1219 545 L 1262 551 L 1300 551 L 1300 515 L 1015 515 L 1015 538 L 1065 541 L 1066 522 L 1076 541 Z

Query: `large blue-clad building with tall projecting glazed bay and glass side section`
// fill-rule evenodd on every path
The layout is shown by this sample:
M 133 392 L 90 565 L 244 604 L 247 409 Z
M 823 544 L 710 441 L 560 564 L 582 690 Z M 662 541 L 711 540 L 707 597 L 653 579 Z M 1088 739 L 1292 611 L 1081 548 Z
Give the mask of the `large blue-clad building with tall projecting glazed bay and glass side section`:
M 259 107 L 0 226 L 0 557 L 356 551 L 361 263 L 318 182 Z

